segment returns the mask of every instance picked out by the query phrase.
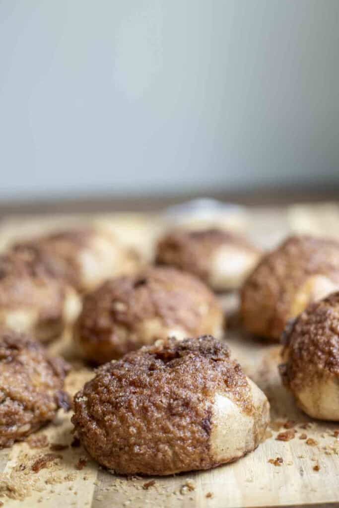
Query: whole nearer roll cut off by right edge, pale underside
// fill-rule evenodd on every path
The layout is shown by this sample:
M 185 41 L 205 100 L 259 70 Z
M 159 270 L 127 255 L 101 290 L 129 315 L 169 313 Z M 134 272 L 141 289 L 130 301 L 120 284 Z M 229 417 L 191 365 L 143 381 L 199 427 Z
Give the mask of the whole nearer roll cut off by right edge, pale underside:
M 309 305 L 283 335 L 280 373 L 312 418 L 339 421 L 339 293 Z

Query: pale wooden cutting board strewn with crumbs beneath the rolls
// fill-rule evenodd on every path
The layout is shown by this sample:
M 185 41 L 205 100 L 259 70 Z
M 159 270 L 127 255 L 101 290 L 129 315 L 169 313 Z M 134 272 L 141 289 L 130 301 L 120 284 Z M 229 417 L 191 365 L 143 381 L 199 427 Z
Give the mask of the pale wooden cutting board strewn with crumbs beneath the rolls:
M 324 215 L 328 215 L 328 207 L 322 214 L 323 210 L 318 207 L 316 214 L 314 207 L 253 210 L 249 215 L 251 236 L 263 245 L 272 245 L 290 231 L 302 231 L 305 224 L 307 232 L 310 228 L 312 232 L 312 217 L 316 219 L 316 228 L 326 231 Z M 339 225 L 336 207 L 333 206 L 333 213 L 329 215 L 330 226 L 327 227 L 331 230 L 333 221 L 338 220 Z M 125 216 L 122 221 L 131 233 L 129 237 L 125 231 L 128 243 L 130 240 L 133 243 L 135 237 L 132 226 L 135 220 L 131 217 L 129 222 Z M 321 220 L 323 223 L 319 226 Z M 149 217 L 139 216 L 137 222 L 135 227 L 152 230 Z M 19 219 L 19 223 L 22 225 L 22 220 Z M 45 226 L 46 219 L 44 224 L 40 219 L 29 219 L 24 229 L 41 230 Z M 18 231 L 16 220 L 5 221 L 0 227 L 0 239 L 4 244 L 8 237 L 15 236 L 15 231 Z M 139 234 L 139 237 L 150 241 L 152 234 Z M 71 446 L 71 415 L 60 411 L 53 424 L 28 442 L 0 451 L 0 500 L 4 505 L 21 508 L 39 504 L 46 508 L 337 505 L 339 437 L 335 431 L 339 430 L 339 424 L 311 421 L 296 408 L 278 375 L 280 346 L 267 345 L 244 335 L 236 319 L 236 294 L 224 296 L 222 301 L 230 316 L 225 340 L 233 356 L 266 393 L 271 404 L 271 427 L 255 452 L 210 471 L 168 478 L 117 477 L 91 461 L 81 446 Z M 49 348 L 72 362 L 74 368 L 67 388 L 75 393 L 93 372 L 74 357 L 70 332 Z M 296 430 L 295 437 L 289 441 L 276 439 L 279 433 L 286 431 L 284 424 Z M 301 439 L 304 435 L 306 438 Z

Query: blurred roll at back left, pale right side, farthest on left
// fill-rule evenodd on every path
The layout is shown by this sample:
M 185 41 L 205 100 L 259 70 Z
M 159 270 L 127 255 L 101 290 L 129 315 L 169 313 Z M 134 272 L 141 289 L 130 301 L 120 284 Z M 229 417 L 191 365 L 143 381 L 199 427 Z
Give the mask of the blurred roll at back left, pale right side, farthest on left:
M 19 243 L 17 251 L 39 252 L 50 273 L 66 280 L 80 293 L 95 289 L 108 277 L 129 273 L 138 255 L 122 247 L 108 229 L 78 228 Z

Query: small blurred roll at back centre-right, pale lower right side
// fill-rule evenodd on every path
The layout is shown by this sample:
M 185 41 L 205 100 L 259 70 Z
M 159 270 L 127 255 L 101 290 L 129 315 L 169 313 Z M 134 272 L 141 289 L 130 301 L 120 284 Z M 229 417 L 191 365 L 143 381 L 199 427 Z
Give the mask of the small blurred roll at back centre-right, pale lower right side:
M 241 236 L 221 229 L 172 231 L 158 243 L 156 262 L 193 273 L 215 291 L 240 287 L 261 257 Z

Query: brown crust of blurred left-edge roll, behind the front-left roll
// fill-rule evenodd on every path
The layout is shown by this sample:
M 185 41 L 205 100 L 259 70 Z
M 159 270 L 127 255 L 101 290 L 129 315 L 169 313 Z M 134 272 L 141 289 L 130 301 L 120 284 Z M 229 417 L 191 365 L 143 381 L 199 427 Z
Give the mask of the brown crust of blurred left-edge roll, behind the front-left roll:
M 56 280 L 41 253 L 11 250 L 0 256 L 0 309 L 36 309 L 39 319 L 60 321 L 65 285 Z

